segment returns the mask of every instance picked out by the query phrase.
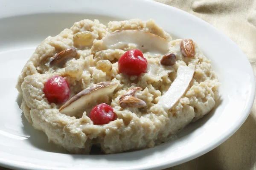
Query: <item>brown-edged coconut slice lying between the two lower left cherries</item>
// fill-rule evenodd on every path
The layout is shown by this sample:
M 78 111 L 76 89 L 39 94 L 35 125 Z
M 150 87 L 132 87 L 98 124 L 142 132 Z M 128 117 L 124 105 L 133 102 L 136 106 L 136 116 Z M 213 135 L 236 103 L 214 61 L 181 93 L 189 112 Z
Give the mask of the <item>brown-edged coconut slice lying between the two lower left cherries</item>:
M 100 82 L 84 89 L 68 100 L 59 111 L 67 116 L 76 116 L 79 111 L 84 111 L 88 103 L 95 102 L 103 95 L 112 94 L 118 84 L 116 82 Z

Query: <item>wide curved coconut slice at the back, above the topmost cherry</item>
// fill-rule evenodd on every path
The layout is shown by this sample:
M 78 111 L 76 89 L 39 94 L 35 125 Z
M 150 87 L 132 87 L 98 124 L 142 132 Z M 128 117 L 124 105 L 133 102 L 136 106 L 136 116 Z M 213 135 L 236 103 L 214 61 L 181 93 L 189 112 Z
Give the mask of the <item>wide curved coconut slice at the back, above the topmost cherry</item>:
M 137 46 L 143 53 L 167 54 L 170 44 L 158 35 L 140 30 L 122 30 L 109 34 L 102 39 L 103 49 L 122 49 L 129 43 Z

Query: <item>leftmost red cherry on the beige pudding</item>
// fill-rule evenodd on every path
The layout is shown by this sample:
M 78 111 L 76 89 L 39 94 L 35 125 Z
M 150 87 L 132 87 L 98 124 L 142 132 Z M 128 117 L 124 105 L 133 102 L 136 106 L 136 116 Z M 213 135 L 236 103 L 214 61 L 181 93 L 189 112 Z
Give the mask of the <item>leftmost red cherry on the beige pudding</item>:
M 50 103 L 61 104 L 70 97 L 70 87 L 60 76 L 53 76 L 44 84 L 44 94 Z

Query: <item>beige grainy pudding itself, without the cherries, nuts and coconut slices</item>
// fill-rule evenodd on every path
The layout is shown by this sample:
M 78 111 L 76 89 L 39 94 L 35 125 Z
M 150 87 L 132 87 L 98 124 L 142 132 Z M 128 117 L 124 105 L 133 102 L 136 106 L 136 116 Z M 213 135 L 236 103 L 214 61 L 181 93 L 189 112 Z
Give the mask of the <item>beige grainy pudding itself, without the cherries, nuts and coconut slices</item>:
M 131 77 L 119 73 L 118 59 L 136 45 L 101 50 L 102 38 L 114 31 L 128 29 L 150 32 L 168 40 L 169 52 L 177 57 L 175 65 L 161 65 L 162 54 L 145 53 L 148 61 L 146 73 Z M 83 31 L 89 31 L 87 38 L 91 39 L 88 40 L 90 45 L 74 43 L 74 34 Z M 184 57 L 180 52 L 180 41 L 172 40 L 153 20 L 113 21 L 108 26 L 98 20 L 81 20 L 38 45 L 17 81 L 17 90 L 23 95 L 21 109 L 35 129 L 47 134 L 49 142 L 64 147 L 70 153 L 89 153 L 93 144 L 99 145 L 104 153 L 120 153 L 166 142 L 190 122 L 207 114 L 219 98 L 220 84 L 210 60 L 196 44 L 195 57 Z M 68 48 L 76 48 L 75 58 L 68 59 L 61 66 L 49 65 L 55 54 Z M 99 60 L 110 61 L 108 72 L 98 69 Z M 177 77 L 180 65 L 195 65 L 195 74 L 186 93 L 167 113 L 157 102 Z M 61 105 L 49 103 L 43 92 L 44 83 L 53 75 L 67 80 L 71 97 L 99 82 L 118 83 L 113 94 L 102 95 L 102 99 L 113 107 L 117 119 L 106 125 L 93 125 L 88 117 L 91 108 L 72 117 L 60 113 L 58 109 Z M 143 88 L 137 92 L 137 98 L 145 101 L 146 107 L 121 108 L 119 98 L 133 87 Z

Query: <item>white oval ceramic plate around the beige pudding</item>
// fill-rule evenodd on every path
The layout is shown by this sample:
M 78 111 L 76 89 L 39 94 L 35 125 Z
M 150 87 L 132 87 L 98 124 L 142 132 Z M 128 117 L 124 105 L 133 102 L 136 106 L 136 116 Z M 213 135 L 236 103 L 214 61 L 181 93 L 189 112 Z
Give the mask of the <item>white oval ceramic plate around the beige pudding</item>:
M 218 107 L 172 142 L 113 155 L 71 155 L 47 142 L 19 109 L 17 77 L 36 46 L 82 19 L 154 19 L 167 32 L 191 38 L 212 60 L 222 83 Z M 0 165 L 13 169 L 163 169 L 207 153 L 242 125 L 253 105 L 255 80 L 245 55 L 224 34 L 191 14 L 153 1 L 2 0 L 0 6 Z

